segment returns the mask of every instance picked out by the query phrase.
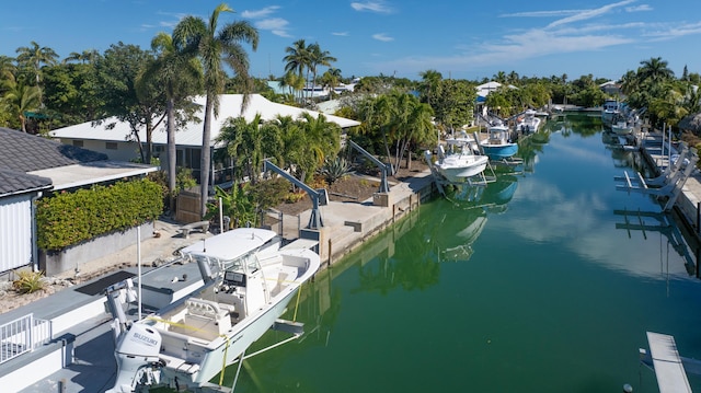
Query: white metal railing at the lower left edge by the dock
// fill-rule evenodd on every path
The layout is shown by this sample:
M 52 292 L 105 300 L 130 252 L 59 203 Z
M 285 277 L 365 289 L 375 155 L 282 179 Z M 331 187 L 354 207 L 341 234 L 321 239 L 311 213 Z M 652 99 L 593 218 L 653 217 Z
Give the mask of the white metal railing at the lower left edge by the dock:
M 31 352 L 50 339 L 50 321 L 35 319 L 34 314 L 0 325 L 0 363 Z

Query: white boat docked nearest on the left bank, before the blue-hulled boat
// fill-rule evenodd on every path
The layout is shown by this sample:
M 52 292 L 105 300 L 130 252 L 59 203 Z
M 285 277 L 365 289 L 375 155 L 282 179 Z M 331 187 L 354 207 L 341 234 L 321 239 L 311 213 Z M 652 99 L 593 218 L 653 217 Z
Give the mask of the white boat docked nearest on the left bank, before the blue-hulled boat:
M 472 148 L 474 140 L 471 138 L 452 138 L 446 141 L 448 152 L 443 145 L 438 146 L 438 160 L 433 162 L 430 152 L 426 152 L 426 159 L 436 171 L 452 183 L 469 182 L 471 177 L 484 172 L 489 163 L 486 155 L 474 153 Z

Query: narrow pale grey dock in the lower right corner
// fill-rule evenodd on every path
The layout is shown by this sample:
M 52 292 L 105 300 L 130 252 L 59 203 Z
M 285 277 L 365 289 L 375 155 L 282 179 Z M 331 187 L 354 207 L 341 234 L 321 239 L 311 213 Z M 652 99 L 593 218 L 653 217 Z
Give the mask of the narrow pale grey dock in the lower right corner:
M 659 393 L 690 393 L 691 386 L 677 350 L 675 337 L 647 332 L 647 343 L 650 344 L 655 375 L 657 375 Z

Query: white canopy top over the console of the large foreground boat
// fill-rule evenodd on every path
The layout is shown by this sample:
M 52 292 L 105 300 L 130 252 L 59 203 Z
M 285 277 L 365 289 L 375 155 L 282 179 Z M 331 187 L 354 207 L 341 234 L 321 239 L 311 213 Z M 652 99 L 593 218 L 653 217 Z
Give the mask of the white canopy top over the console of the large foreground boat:
M 181 253 L 233 261 L 262 246 L 276 235 L 277 233 L 267 229 L 237 228 L 188 245 L 181 250 Z

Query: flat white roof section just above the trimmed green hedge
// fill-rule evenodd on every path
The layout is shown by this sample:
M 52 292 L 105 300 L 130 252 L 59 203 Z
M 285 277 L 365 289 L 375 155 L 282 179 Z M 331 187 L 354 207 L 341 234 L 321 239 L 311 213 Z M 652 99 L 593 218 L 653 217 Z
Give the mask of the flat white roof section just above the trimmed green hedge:
M 60 190 L 124 177 L 145 175 L 156 171 L 158 171 L 157 166 L 135 164 L 131 162 L 92 161 L 27 172 L 27 174 L 48 177 L 54 185 L 53 189 Z

